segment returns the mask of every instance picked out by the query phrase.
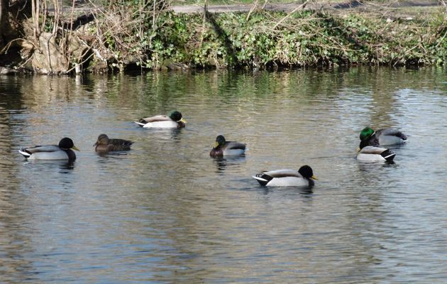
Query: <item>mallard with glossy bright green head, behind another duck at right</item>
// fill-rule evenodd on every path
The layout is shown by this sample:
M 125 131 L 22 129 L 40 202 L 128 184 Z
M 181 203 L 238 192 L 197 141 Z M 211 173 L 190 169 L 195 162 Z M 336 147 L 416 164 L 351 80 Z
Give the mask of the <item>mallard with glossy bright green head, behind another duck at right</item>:
M 360 140 L 369 146 L 396 145 L 407 142 L 407 136 L 398 129 L 379 129 L 374 131 L 366 127 L 360 132 Z

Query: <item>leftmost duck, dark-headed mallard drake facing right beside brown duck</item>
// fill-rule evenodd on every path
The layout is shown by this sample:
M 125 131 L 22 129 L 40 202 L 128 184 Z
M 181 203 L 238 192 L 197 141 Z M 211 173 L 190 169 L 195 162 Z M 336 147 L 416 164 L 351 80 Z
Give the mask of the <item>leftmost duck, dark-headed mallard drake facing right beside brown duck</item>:
M 59 145 L 21 148 L 18 153 L 28 160 L 75 160 L 76 154 L 73 150 L 79 151 L 72 139 L 65 137 L 59 141 Z

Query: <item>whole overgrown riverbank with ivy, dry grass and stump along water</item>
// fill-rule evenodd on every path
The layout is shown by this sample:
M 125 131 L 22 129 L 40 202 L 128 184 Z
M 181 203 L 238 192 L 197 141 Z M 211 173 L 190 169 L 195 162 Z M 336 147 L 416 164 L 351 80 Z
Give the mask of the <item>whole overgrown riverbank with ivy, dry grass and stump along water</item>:
M 123 7 L 96 10 L 89 12 L 92 21 L 70 31 L 68 43 L 65 32 L 65 53 L 53 54 L 61 50 L 57 34 L 43 34 L 43 39 L 53 40 L 53 51 L 50 45 L 46 51 L 43 44 L 36 48 L 45 40 L 22 40 L 15 49 L 20 56 L 3 54 L 0 65 L 41 73 L 445 65 L 446 8 L 435 2 L 400 7 L 375 1 L 170 6 L 153 13 L 124 13 Z M 28 42 L 34 43 L 27 50 Z M 45 62 L 49 55 L 55 59 Z M 52 66 L 54 62 L 62 67 Z

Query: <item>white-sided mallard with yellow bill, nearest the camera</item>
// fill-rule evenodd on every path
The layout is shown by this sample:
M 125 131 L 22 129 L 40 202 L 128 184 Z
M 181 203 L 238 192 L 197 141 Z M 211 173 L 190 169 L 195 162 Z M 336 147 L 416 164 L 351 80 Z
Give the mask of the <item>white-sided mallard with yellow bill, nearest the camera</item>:
M 314 171 L 309 165 L 303 165 L 296 170 L 271 170 L 269 172 L 258 173 L 253 176 L 260 185 L 287 187 L 309 187 L 314 185 L 314 180 L 318 180 Z

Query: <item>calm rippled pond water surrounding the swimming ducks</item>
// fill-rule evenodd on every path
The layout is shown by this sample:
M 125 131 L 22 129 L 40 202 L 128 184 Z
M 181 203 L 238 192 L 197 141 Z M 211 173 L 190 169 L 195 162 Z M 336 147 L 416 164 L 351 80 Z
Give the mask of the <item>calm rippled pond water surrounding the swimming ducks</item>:
M 436 69 L 0 77 L 0 282 L 447 283 L 446 121 Z M 394 164 L 355 160 L 364 126 L 407 134 Z M 63 136 L 72 165 L 17 152 Z M 304 164 L 311 190 L 250 178 Z

